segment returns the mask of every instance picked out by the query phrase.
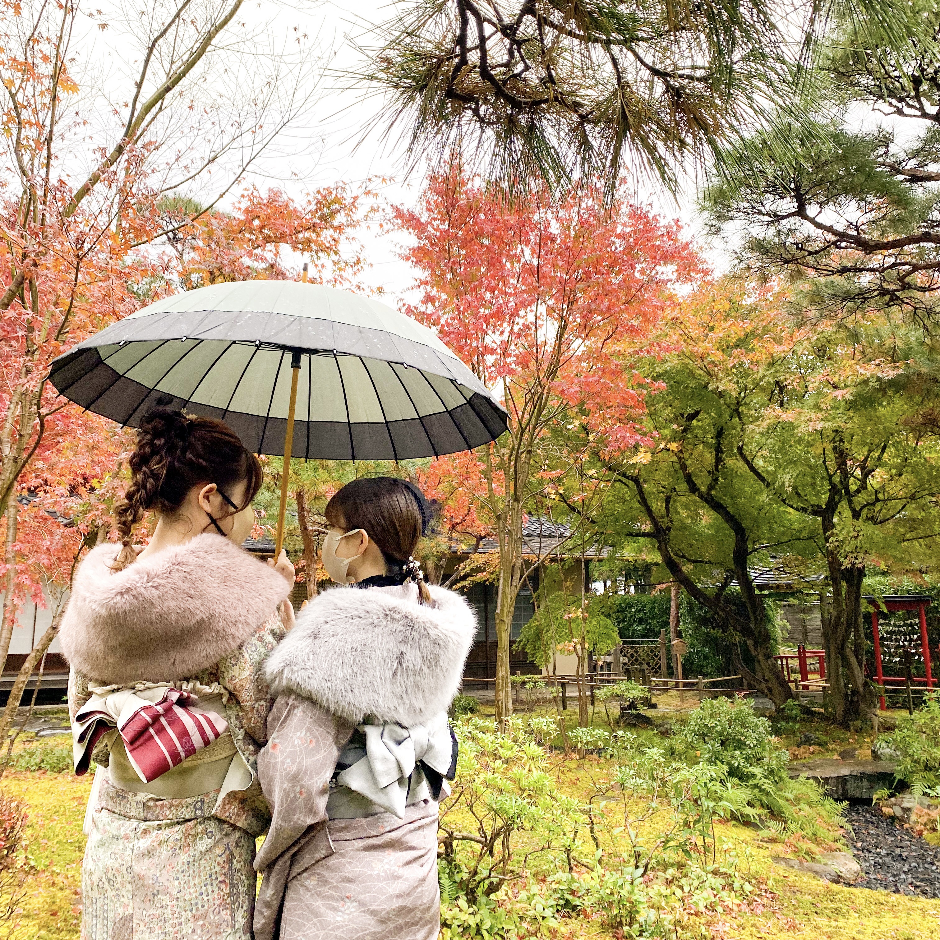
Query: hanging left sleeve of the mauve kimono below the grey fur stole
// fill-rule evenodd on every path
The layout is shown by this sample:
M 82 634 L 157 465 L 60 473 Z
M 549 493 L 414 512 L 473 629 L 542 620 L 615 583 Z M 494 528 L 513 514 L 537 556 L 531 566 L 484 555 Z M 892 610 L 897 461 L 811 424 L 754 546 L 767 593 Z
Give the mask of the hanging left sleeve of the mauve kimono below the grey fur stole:
M 258 779 L 271 807 L 271 829 L 255 860 L 260 871 L 290 852 L 311 826 L 326 820 L 330 779 L 352 724 L 298 696 L 281 696 L 258 754 Z

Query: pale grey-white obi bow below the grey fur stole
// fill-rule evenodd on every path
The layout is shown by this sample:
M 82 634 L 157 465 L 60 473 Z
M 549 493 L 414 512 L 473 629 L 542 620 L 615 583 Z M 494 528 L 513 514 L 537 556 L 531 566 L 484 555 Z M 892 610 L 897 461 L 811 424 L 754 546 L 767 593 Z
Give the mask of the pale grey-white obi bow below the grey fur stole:
M 337 783 L 404 819 L 409 803 L 431 797 L 418 761 L 441 776 L 450 770 L 452 740 L 446 713 L 411 728 L 387 723 L 358 729 L 366 737 L 366 757 L 338 774 Z M 449 792 L 446 781 L 444 791 Z

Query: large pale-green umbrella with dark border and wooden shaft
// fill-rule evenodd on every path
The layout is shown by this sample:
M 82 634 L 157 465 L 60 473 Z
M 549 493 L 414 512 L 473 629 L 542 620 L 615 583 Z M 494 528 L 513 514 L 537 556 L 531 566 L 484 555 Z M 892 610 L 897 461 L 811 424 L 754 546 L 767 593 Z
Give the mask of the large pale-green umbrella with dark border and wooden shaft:
M 243 281 L 176 294 L 52 364 L 66 398 L 140 426 L 155 405 L 225 421 L 259 454 L 405 460 L 468 450 L 507 428 L 502 405 L 431 330 L 345 290 Z

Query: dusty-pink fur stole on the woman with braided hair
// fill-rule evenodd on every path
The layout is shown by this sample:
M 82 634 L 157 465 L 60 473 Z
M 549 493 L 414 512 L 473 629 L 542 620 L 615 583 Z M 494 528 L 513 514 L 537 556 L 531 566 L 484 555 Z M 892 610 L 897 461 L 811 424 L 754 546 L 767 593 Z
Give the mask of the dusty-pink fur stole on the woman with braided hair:
M 290 593 L 284 578 L 218 535 L 113 572 L 119 547 L 87 554 L 59 633 L 71 666 L 97 682 L 196 675 L 241 646 Z

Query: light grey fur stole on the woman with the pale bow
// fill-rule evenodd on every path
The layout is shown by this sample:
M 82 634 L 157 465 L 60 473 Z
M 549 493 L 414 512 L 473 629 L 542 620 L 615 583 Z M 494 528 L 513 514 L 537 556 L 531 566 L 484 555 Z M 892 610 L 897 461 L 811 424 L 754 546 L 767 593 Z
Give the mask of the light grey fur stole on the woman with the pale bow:
M 272 691 L 353 723 L 370 715 L 408 727 L 445 711 L 477 619 L 459 594 L 431 586 L 431 598 L 417 603 L 413 585 L 324 591 L 268 657 Z

